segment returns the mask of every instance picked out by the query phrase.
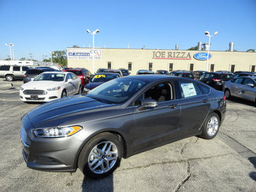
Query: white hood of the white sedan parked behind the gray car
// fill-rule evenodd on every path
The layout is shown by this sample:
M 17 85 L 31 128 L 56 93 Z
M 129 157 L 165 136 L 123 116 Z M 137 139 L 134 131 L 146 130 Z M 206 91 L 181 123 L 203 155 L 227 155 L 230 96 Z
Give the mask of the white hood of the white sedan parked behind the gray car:
M 34 90 L 42 90 L 45 88 L 53 88 L 55 86 L 61 86 L 64 84 L 63 81 L 29 81 L 26 84 L 22 84 L 22 88 L 24 89 L 34 89 Z

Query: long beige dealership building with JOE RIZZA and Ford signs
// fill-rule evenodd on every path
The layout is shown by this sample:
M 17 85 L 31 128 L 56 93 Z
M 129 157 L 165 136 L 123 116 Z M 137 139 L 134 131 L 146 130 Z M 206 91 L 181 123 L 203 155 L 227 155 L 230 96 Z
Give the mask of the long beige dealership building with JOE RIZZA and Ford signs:
M 161 49 L 111 49 L 95 48 L 94 60 L 92 48 L 67 48 L 68 67 L 87 68 L 93 73 L 98 68 L 127 68 L 131 75 L 138 70 L 237 70 L 255 72 L 256 52 L 209 51 L 207 65 L 207 44 L 204 49 L 198 42 L 198 50 L 161 50 Z M 201 50 L 200 50 L 201 49 Z M 94 64 L 93 64 L 94 63 Z M 94 65 L 94 70 L 93 70 Z

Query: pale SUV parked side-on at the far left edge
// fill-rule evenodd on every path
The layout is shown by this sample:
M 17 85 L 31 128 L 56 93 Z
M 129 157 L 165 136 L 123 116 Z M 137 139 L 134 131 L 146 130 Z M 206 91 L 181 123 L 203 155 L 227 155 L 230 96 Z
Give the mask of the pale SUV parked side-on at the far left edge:
M 0 78 L 5 78 L 7 81 L 13 81 L 15 79 L 24 79 L 24 74 L 28 70 L 27 66 L 19 65 L 1 65 L 0 66 Z

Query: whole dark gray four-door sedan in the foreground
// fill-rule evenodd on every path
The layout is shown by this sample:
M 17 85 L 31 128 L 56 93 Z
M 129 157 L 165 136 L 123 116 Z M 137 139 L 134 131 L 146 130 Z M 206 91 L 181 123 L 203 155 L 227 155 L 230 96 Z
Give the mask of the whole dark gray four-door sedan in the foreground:
M 22 118 L 22 154 L 29 168 L 100 179 L 151 148 L 218 133 L 223 92 L 183 77 L 113 79 L 90 91 L 37 106 Z

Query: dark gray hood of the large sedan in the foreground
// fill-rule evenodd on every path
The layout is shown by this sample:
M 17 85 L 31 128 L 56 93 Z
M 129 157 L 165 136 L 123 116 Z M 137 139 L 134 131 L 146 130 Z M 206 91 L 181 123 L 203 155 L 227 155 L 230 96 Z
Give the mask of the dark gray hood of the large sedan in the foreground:
M 104 118 L 106 110 L 119 109 L 116 104 L 105 104 L 84 95 L 65 97 L 47 102 L 27 113 L 35 129 L 60 127 Z M 102 115 L 103 114 L 103 115 Z

